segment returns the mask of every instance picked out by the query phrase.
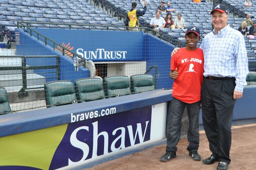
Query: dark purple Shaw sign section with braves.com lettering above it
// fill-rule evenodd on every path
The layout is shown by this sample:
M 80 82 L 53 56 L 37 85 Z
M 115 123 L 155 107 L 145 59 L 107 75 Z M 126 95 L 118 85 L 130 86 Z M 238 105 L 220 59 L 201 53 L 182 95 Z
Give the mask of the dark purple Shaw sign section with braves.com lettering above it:
M 108 116 L 103 116 L 101 111 L 98 114 L 101 116 L 93 116 L 93 119 L 87 120 L 86 115 L 89 118 L 89 112 L 71 114 L 73 123 L 68 124 L 66 133 L 55 150 L 49 170 L 78 166 L 89 159 L 149 141 L 151 111 L 151 106 L 122 113 L 113 112 Z M 95 115 L 95 112 L 92 113 Z M 84 121 L 78 121 L 81 117 L 84 117 Z

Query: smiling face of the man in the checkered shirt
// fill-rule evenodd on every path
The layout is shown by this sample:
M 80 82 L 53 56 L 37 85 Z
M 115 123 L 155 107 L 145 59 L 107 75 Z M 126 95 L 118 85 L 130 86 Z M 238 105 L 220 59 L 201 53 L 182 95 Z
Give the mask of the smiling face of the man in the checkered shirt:
M 228 16 L 226 13 L 221 13 L 220 11 L 212 12 L 212 25 L 215 28 L 215 31 L 219 31 L 225 26 L 227 26 Z

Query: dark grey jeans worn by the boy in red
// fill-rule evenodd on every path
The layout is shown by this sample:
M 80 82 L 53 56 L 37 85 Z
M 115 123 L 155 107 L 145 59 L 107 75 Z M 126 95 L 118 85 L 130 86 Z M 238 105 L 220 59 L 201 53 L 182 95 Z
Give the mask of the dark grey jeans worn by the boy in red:
M 169 123 L 169 129 L 167 134 L 166 151 L 177 151 L 176 145 L 180 139 L 181 118 L 186 106 L 189 117 L 189 130 L 187 134 L 189 146 L 187 147 L 187 150 L 191 152 L 198 150 L 200 103 L 201 102 L 199 101 L 192 104 L 188 104 L 173 97 L 171 108 L 171 120 Z

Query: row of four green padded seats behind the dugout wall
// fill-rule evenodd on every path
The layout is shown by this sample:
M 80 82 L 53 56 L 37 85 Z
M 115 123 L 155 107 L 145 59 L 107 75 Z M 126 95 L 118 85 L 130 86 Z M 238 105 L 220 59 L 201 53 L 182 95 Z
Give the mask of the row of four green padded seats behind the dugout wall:
M 131 84 L 131 85 L 130 85 Z M 88 102 L 103 98 L 137 94 L 152 91 L 154 77 L 151 74 L 128 76 L 85 78 L 75 81 L 47 82 L 44 85 L 45 100 L 48 108 L 77 102 Z

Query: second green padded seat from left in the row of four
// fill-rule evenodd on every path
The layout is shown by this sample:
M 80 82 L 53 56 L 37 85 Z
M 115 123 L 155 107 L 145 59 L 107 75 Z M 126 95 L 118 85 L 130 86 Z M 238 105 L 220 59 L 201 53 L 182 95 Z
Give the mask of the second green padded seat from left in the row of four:
M 78 102 L 88 102 L 105 98 L 103 81 L 100 78 L 85 78 L 75 81 Z

